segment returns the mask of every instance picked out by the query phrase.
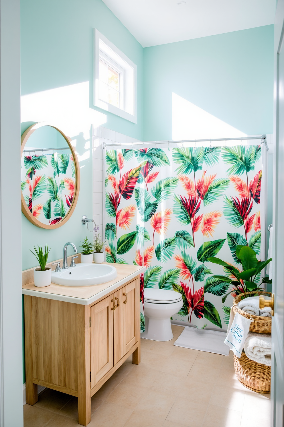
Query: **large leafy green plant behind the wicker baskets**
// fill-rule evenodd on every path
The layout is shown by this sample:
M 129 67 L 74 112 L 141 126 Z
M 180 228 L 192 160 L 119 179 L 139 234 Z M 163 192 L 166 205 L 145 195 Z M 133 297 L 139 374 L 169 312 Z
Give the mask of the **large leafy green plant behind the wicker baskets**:
M 238 263 L 241 263 L 243 271 L 238 270 L 230 263 L 222 261 L 220 258 L 208 258 L 208 261 L 223 266 L 225 273 L 227 273 L 226 276 L 214 275 L 212 277 L 226 281 L 233 287 L 232 290 L 230 290 L 226 295 L 223 296 L 223 304 L 227 296 L 232 292 L 234 292 L 236 295 L 239 295 L 244 292 L 258 291 L 262 289 L 260 287 L 262 283 L 271 283 L 271 280 L 269 280 L 268 278 L 262 278 L 260 284 L 257 284 L 256 282 L 259 281 L 258 276 L 261 270 L 264 269 L 264 267 L 267 266 L 268 263 L 270 263 L 272 258 L 267 261 L 258 261 L 256 258 L 255 251 L 249 246 L 242 245 L 238 245 L 236 247 L 235 258 L 238 260 Z

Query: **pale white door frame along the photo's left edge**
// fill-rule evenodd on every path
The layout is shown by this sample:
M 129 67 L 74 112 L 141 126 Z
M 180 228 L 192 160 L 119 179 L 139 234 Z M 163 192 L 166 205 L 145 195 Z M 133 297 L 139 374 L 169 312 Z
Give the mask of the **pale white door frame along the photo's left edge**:
M 0 0 L 0 426 L 23 426 L 20 0 Z

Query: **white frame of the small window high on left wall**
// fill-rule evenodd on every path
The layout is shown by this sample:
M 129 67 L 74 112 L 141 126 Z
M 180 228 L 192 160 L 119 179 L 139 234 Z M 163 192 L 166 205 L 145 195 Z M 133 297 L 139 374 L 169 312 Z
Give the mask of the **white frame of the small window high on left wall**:
M 122 77 L 122 108 L 99 99 L 99 62 L 105 58 Z M 137 123 L 137 66 L 111 41 L 94 28 L 94 105 L 112 114 Z

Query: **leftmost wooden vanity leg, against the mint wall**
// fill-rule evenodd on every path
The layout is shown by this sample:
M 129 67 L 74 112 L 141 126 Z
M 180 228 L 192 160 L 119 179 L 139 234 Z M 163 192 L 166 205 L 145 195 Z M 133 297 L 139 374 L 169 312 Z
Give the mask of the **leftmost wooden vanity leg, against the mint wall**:
M 37 384 L 32 382 L 32 297 L 24 296 L 25 301 L 25 356 L 26 356 L 26 403 L 37 402 Z

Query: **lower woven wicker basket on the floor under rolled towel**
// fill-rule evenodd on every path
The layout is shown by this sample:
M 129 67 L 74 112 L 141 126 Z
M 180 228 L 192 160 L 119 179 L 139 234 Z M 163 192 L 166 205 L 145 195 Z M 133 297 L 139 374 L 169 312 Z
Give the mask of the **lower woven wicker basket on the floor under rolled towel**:
M 238 380 L 245 387 L 254 392 L 270 392 L 270 366 L 250 360 L 243 351 L 240 359 L 234 355 L 234 368 Z

